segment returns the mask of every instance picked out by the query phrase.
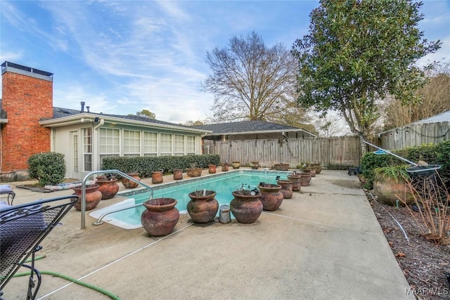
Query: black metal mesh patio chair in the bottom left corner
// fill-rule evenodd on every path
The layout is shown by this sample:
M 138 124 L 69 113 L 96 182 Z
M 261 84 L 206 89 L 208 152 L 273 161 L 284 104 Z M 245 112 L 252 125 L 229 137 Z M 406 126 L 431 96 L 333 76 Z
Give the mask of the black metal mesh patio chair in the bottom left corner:
M 77 200 L 75 195 L 65 195 L 0 207 L 0 299 L 3 294 L 1 291 L 22 266 L 31 270 L 27 299 L 36 297 L 41 285 L 41 274 L 34 268 L 35 252 L 42 248 L 39 244 Z M 25 264 L 30 255 L 30 265 Z

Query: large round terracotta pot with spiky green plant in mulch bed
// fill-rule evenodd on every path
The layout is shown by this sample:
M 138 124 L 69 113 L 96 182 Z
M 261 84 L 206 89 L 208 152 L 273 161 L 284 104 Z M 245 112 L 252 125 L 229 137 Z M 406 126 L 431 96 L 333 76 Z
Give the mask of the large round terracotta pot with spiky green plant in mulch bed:
M 381 174 L 378 174 L 373 179 L 373 191 L 380 202 L 388 205 L 395 205 L 397 196 L 406 202 L 406 204 L 411 204 L 414 201 L 413 194 L 406 183 L 396 181 L 394 178 Z M 399 204 L 403 203 L 399 201 Z

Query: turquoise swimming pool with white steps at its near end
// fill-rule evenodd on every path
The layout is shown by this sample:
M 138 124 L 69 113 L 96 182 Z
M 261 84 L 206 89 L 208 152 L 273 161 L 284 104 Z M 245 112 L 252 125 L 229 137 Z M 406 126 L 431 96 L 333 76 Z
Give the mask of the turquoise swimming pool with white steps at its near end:
M 187 214 L 188 211 L 186 207 L 191 200 L 188 194 L 195 190 L 214 190 L 217 193 L 215 198 L 217 202 L 219 202 L 219 206 L 224 204 L 229 205 L 231 200 L 233 200 L 231 192 L 238 190 L 241 185 L 248 187 L 248 185 L 259 185 L 261 182 L 276 183 L 277 176 L 285 179 L 290 173 L 290 171 L 236 170 L 211 176 L 190 178 L 184 181 L 154 186 L 153 198 L 174 198 L 178 201 L 176 208 L 180 211 L 180 214 Z M 89 213 L 89 216 L 98 219 L 105 212 L 115 211 L 124 207 L 131 207 L 134 204 L 143 203 L 148 200 L 150 193 L 142 193 L 142 190 L 136 190 L 127 194 L 122 194 L 122 196 L 129 197 L 129 199 L 103 209 L 92 211 Z M 142 227 L 141 214 L 144 209 L 146 208 L 142 205 L 124 211 L 117 211 L 116 213 L 105 216 L 103 221 L 125 229 L 140 228 Z M 219 212 L 217 214 L 219 214 Z

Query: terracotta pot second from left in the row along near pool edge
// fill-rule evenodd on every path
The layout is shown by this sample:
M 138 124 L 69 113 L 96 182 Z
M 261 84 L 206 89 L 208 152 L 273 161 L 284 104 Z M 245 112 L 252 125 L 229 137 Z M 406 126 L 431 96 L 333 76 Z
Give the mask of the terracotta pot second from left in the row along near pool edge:
M 197 190 L 189 193 L 188 214 L 195 223 L 208 223 L 214 220 L 219 210 L 219 202 L 212 190 Z

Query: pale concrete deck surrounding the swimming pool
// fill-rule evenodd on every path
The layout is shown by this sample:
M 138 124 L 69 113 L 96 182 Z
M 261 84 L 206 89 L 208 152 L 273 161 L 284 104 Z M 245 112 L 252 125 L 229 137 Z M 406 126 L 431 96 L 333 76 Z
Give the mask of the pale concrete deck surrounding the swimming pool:
M 143 182 L 151 185 L 151 178 Z M 14 204 L 73 193 L 14 192 Z M 102 200 L 97 209 L 123 199 Z M 173 233 L 150 237 L 143 228 L 94 221 L 86 213 L 81 229 L 80 212 L 69 211 L 41 243 L 37 255 L 45 258 L 36 267 L 120 299 L 415 299 L 406 295 L 408 282 L 358 178 L 347 171 L 323 170 L 252 224 L 195 224 L 182 214 Z M 13 278 L 3 297 L 25 299 L 26 291 L 27 278 Z M 37 296 L 109 299 L 51 275 L 42 275 Z

